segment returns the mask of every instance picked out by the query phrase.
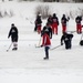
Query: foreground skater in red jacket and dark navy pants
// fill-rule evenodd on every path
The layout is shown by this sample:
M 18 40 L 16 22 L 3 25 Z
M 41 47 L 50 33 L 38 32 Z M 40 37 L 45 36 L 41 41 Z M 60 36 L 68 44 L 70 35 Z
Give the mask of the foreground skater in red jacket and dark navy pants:
M 41 46 L 44 46 L 44 51 L 45 51 L 44 60 L 49 60 L 49 49 L 50 49 L 50 45 L 51 45 L 51 40 L 50 40 L 46 31 L 44 31 L 43 34 L 42 34 L 42 45 L 41 45 Z

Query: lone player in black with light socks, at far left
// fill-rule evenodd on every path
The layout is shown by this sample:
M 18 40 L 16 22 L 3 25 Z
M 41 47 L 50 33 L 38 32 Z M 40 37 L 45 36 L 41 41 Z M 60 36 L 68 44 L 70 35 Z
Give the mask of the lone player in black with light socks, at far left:
M 12 50 L 18 50 L 18 29 L 14 25 L 14 23 L 11 24 L 11 29 L 9 31 L 8 38 L 11 37 L 11 41 L 13 43 L 13 49 Z

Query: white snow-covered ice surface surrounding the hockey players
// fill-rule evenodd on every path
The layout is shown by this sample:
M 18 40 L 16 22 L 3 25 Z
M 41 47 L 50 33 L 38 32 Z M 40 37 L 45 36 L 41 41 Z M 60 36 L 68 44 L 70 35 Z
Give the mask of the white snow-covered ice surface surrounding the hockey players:
M 50 50 L 50 60 L 44 61 L 44 49 L 39 45 L 40 34 L 33 32 L 34 9 L 40 2 L 4 2 L 0 3 L 0 9 L 12 10 L 14 17 L 0 19 L 0 83 L 83 83 L 83 46 L 80 39 L 82 34 L 74 34 L 72 49 L 65 50 L 64 45 L 55 50 Z M 44 3 L 42 3 L 44 4 Z M 52 12 L 56 12 L 59 20 L 61 15 L 70 10 L 73 15 L 77 8 L 83 8 L 83 3 L 46 3 Z M 9 13 L 10 14 L 10 13 Z M 7 52 L 11 40 L 8 33 L 14 23 L 19 30 L 18 51 L 12 51 L 12 46 Z M 43 20 L 43 25 L 45 20 Z M 82 23 L 83 24 L 83 23 Z M 75 31 L 74 20 L 69 21 L 68 31 Z M 52 46 L 60 44 L 61 23 L 59 34 L 53 35 Z

